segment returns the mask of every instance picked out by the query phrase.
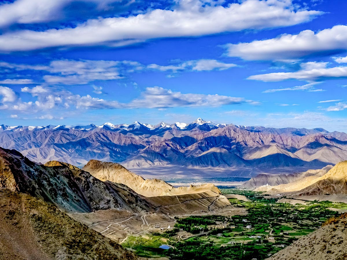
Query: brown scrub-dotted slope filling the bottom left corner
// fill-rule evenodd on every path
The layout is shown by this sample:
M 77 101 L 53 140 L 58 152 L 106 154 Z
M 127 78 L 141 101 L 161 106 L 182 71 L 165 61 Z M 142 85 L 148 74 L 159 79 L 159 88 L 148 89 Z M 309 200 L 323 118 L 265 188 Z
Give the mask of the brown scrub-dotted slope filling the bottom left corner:
M 43 200 L 0 189 L 0 205 L 0 259 L 138 259 Z

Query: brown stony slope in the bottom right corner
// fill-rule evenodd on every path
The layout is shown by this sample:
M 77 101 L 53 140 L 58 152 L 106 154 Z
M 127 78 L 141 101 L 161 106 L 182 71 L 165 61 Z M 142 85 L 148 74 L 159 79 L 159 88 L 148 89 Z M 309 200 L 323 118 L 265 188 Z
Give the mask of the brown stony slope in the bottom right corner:
M 295 241 L 267 260 L 347 259 L 347 215 L 332 218 L 323 227 Z

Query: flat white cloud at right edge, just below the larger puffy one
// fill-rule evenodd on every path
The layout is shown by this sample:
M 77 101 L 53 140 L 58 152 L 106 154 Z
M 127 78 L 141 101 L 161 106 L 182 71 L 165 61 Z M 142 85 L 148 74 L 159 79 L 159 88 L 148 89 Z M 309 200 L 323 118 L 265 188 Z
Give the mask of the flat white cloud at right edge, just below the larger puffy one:
M 296 72 L 273 72 L 268 74 L 253 75 L 248 79 L 261 81 L 281 81 L 286 79 L 317 80 L 321 78 L 344 78 L 347 77 L 347 67 L 327 68 L 327 62 L 302 63 L 301 70 Z

